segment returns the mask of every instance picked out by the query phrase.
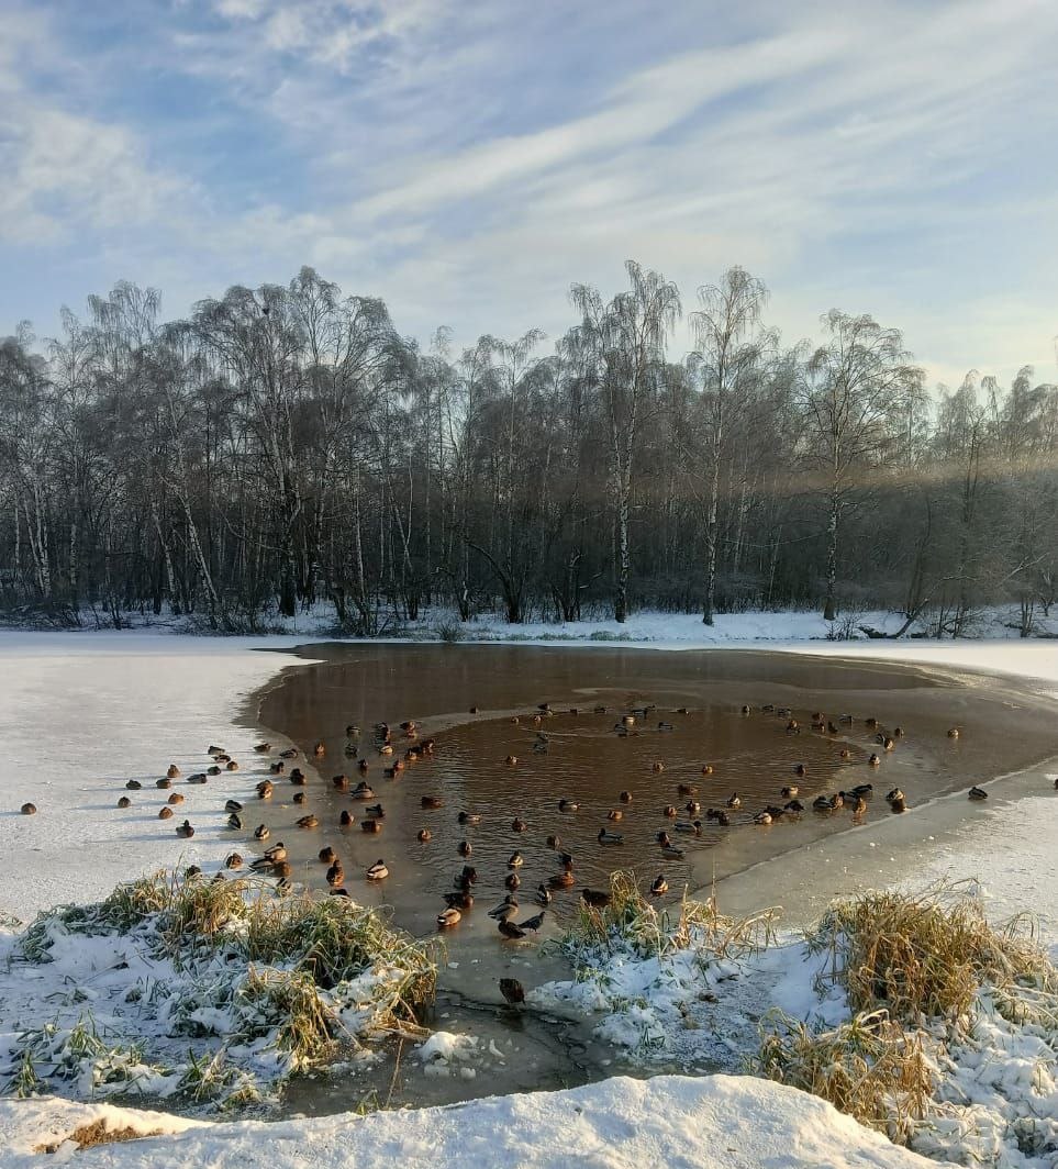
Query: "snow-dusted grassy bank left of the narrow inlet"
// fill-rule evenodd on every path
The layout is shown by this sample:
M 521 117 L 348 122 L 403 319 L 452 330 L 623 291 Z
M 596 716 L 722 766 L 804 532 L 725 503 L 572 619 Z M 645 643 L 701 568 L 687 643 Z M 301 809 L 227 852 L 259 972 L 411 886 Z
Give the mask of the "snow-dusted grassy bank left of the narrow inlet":
M 155 873 L 0 935 L 0 1086 L 234 1108 L 388 1032 L 436 955 L 346 898 Z

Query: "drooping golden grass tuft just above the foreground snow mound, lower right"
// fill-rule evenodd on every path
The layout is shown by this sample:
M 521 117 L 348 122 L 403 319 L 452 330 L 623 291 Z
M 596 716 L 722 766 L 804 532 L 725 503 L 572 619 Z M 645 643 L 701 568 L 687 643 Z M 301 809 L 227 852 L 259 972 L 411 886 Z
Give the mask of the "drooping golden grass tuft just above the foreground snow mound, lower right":
M 756 1074 L 829 1100 L 862 1125 L 905 1144 L 932 1102 L 933 1077 L 921 1035 L 886 1011 L 859 1014 L 831 1031 L 773 1017 Z

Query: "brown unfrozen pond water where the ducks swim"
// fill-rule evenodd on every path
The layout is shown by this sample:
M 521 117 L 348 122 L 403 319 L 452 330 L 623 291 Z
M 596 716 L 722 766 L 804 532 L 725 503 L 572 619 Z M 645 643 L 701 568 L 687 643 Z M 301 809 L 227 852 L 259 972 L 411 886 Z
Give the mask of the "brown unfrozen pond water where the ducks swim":
M 249 804 L 244 818 L 251 826 L 268 824 L 271 842 L 288 845 L 297 876 L 313 887 L 326 887 L 317 853 L 332 845 L 344 862 L 351 895 L 390 907 L 396 925 L 420 935 L 435 932 L 442 894 L 452 890 L 464 864 L 473 865 L 476 904 L 445 934 L 451 964 L 442 971 L 435 1024 L 496 1032 L 498 1051 L 505 1051 L 509 1040 L 516 1050 L 470 1081 L 406 1075 L 390 1059 L 352 1087 L 331 1080 L 295 1093 L 292 1102 L 305 1111 L 348 1107 L 350 1092 L 361 1091 L 361 1082 L 390 1102 L 445 1102 L 520 1091 L 524 1080 L 555 1086 L 606 1073 L 604 1056 L 592 1049 L 583 1029 L 537 1018 L 514 1022 L 498 1005 L 496 982 L 504 974 L 517 975 L 526 985 L 565 976 L 553 953 L 540 957 L 530 942 L 505 942 L 487 916 L 507 891 L 507 862 L 516 851 L 524 858 L 518 870 L 519 920 L 538 912 L 537 885 L 562 867 L 546 838 L 559 836 L 561 850 L 573 856 L 575 886 L 555 892 L 539 935 L 548 938 L 575 913 L 580 890 L 604 888 L 614 869 L 634 869 L 644 883 L 664 873 L 671 900 L 687 887 L 708 885 L 852 828 L 856 821 L 849 811 L 811 810 L 821 793 L 872 783 L 876 795 L 867 817 L 874 818 L 890 815 L 883 797 L 899 786 L 913 816 L 917 803 L 1058 752 L 1047 699 L 1009 679 L 926 673 L 905 665 L 755 651 L 525 645 L 357 644 L 312 646 L 312 653 L 325 660 L 284 671 L 261 698 L 255 719 L 309 753 L 312 767 L 298 761 L 309 774 L 309 786 L 300 789 L 307 805 L 293 804 L 299 789 L 279 777 L 275 798 Z M 537 718 L 544 703 L 551 713 Z M 744 704 L 752 707 L 749 715 L 741 713 Z M 766 704 L 789 707 L 801 733 L 788 733 L 789 715 L 766 712 Z M 603 706 L 604 713 L 596 713 Z M 471 707 L 478 713 L 470 714 Z M 634 708 L 641 713 L 631 733 L 618 734 L 615 725 Z M 816 712 L 837 724 L 838 733 L 812 731 Z M 846 713 L 853 717 L 851 724 L 842 721 Z M 891 754 L 877 748 L 883 756 L 878 768 L 867 766 L 877 747 L 876 731 L 865 722 L 869 717 L 886 729 L 905 731 Z M 383 768 L 408 745 L 397 729 L 407 719 L 416 721 L 421 736 L 436 738 L 436 754 L 387 779 Z M 376 752 L 376 722 L 392 726 L 394 756 Z M 352 740 L 346 736 L 348 724 L 361 728 Z M 952 726 L 961 728 L 957 739 L 947 735 Z M 534 750 L 534 743 L 545 746 L 540 735 L 546 736 L 546 749 Z M 325 745 L 323 759 L 311 754 L 317 741 Z M 357 758 L 347 749 L 355 749 Z M 842 758 L 843 749 L 849 758 Z M 517 762 L 506 762 L 509 756 Z M 360 759 L 367 761 L 364 777 L 374 788 L 366 802 L 336 791 L 330 782 L 344 772 L 355 787 Z M 706 765 L 711 774 L 703 774 Z M 803 776 L 795 774 L 797 765 Z M 700 801 L 701 814 L 685 809 L 689 796 L 679 793 L 679 784 L 697 788 L 693 798 Z M 805 804 L 803 815 L 768 826 L 752 822 L 766 804 L 784 803 L 780 791 L 793 784 Z M 253 793 L 249 782 L 248 790 Z M 623 790 L 631 791 L 630 803 L 620 800 Z M 741 807 L 729 812 L 731 826 L 714 826 L 705 808 L 724 807 L 733 793 Z M 440 797 L 442 807 L 424 810 L 424 795 Z M 560 811 L 561 798 L 575 802 L 578 810 Z M 365 803 L 376 802 L 385 809 L 383 828 L 367 835 L 359 822 L 367 818 Z M 679 822 L 701 818 L 701 835 L 677 831 L 663 814 L 669 804 L 679 809 Z M 338 826 L 343 809 L 357 817 L 351 828 Z M 318 829 L 295 826 L 306 810 L 319 817 Z M 480 824 L 461 825 L 462 810 L 479 815 Z M 608 818 L 613 810 L 622 812 L 620 821 Z M 525 831 L 512 830 L 516 816 L 526 822 Z M 431 832 L 424 844 L 416 839 L 421 828 Z M 601 828 L 621 833 L 623 842 L 600 844 Z M 683 858 L 662 855 L 656 839 L 661 830 L 685 851 Z M 458 851 L 464 841 L 471 845 L 470 857 Z M 812 881 L 810 856 L 805 850 L 800 876 L 804 887 Z M 389 878 L 366 880 L 367 866 L 379 858 Z M 796 894 L 796 888 L 762 890 L 761 900 L 774 904 Z

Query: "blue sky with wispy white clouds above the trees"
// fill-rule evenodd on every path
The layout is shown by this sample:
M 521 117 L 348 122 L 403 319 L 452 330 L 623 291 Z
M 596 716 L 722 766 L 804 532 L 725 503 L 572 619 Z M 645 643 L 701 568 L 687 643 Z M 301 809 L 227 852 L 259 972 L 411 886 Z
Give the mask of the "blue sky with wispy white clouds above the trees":
M 574 323 L 634 258 L 767 319 L 1058 380 L 1053 0 L 0 0 L 0 336 L 303 264 L 424 345 Z M 686 323 L 672 354 L 690 347 Z

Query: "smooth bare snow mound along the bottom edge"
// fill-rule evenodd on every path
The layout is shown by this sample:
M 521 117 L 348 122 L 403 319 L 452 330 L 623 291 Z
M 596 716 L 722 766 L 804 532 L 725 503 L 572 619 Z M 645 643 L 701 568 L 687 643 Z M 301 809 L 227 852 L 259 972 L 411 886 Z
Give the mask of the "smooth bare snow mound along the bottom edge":
M 89 1108 L 82 1106 L 85 1119 Z M 140 1114 L 112 1109 L 111 1123 Z M 58 1118 L 39 1101 L 0 1101 L 5 1169 L 35 1169 L 30 1151 L 43 1127 L 55 1140 L 79 1123 L 78 1108 Z M 165 1126 L 165 1119 L 159 1127 Z M 146 1122 L 150 1126 L 150 1121 Z M 182 1128 L 182 1130 L 179 1130 Z M 264 1125 L 256 1121 L 186 1128 L 174 1121 L 165 1140 L 99 1146 L 77 1155 L 83 1169 L 406 1169 L 468 1165 L 507 1169 L 921 1169 L 922 1157 L 836 1112 L 830 1105 L 748 1077 L 616 1077 L 590 1087 L 490 1097 L 447 1108 L 327 1116 Z

